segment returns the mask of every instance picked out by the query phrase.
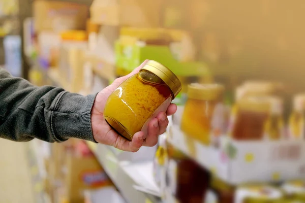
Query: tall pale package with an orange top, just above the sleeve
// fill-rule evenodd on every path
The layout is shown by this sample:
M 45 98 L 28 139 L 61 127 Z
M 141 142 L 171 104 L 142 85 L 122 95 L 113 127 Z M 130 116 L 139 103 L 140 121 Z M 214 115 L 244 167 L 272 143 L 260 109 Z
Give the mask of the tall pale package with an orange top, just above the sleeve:
M 87 48 L 87 35 L 83 30 L 70 30 L 61 33 L 58 71 L 64 88 L 79 92 L 83 87 L 84 50 Z

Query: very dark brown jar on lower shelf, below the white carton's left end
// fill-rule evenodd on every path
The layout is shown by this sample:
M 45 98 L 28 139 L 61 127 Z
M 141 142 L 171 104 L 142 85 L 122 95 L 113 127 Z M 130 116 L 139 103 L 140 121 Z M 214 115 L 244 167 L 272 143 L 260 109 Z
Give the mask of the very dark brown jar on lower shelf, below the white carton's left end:
M 182 154 L 167 143 L 168 165 L 166 170 L 166 190 L 179 203 L 202 203 L 209 187 L 210 174 L 193 159 Z

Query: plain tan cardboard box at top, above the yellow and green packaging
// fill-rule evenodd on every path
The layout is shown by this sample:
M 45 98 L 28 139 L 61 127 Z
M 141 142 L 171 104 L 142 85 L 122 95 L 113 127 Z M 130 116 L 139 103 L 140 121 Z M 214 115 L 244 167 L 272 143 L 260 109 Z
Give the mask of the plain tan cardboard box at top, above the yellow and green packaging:
M 94 0 L 90 7 L 93 22 L 102 25 L 159 27 L 163 0 Z

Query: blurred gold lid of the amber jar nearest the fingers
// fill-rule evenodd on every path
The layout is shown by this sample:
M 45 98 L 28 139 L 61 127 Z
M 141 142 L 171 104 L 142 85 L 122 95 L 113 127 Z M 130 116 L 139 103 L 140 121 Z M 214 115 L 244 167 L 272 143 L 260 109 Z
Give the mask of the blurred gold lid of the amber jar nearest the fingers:
M 214 100 L 224 91 L 224 86 L 220 84 L 199 84 L 192 83 L 188 86 L 188 97 L 200 100 Z

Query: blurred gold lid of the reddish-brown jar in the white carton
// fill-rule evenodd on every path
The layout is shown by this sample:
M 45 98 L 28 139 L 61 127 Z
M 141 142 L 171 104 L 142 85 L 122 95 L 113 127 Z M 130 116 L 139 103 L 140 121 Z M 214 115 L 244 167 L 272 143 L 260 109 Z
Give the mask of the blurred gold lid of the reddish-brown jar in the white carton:
M 270 100 L 266 97 L 251 96 L 247 98 L 242 98 L 237 101 L 237 107 L 239 110 L 255 111 L 270 113 L 271 104 Z

